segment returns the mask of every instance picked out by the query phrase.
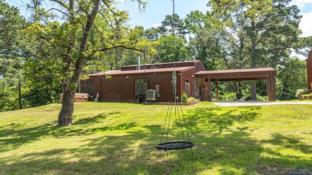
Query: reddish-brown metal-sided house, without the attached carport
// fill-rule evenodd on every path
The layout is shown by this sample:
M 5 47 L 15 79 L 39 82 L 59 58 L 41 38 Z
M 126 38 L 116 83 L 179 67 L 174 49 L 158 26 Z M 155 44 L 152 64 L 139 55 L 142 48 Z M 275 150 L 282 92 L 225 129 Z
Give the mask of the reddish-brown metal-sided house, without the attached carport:
M 201 84 L 204 79 L 195 80 L 194 74 L 204 71 L 200 60 L 123 66 L 121 70 L 98 72 L 85 75 L 89 79 L 81 80 L 79 92 L 88 93 L 89 100 L 97 97 L 102 102 L 134 102 L 135 94 L 146 98 L 146 90 L 156 90 L 156 99 L 160 102 L 172 100 L 172 73 L 176 71 L 176 88 L 179 98 L 183 91 L 188 97 L 202 95 Z M 110 78 L 106 78 L 106 77 Z M 196 82 L 195 82 L 196 81 Z

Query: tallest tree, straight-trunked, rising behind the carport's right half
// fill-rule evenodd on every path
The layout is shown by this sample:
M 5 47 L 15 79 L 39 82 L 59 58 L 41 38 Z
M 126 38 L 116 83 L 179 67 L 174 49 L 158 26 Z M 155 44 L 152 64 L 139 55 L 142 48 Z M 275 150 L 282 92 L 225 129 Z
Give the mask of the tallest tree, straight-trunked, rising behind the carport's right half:
M 244 50 L 249 50 L 250 68 L 256 68 L 276 67 L 280 59 L 290 54 L 287 49 L 291 48 L 292 42 L 300 34 L 298 24 L 301 17 L 298 15 L 298 8 L 288 6 L 289 2 L 290 0 L 210 0 L 209 5 L 224 25 L 231 27 L 231 23 L 243 24 L 236 33 L 244 33 L 247 37 L 248 40 L 244 43 L 248 49 Z M 253 83 L 252 100 L 256 100 L 255 92 L 256 86 Z

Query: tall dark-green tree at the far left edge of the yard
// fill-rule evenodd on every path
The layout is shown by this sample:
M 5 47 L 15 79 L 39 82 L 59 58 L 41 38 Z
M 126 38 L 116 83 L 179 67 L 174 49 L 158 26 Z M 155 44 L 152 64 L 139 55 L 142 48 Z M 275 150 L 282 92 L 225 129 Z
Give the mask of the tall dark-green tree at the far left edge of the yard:
M 0 1 L 0 111 L 22 108 L 22 60 L 27 51 L 20 29 L 27 25 L 16 7 Z

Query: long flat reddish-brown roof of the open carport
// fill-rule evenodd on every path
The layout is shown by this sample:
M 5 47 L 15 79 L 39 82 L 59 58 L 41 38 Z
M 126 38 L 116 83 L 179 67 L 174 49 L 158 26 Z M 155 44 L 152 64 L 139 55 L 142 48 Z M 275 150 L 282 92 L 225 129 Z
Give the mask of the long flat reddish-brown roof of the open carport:
M 195 78 L 210 78 L 211 81 L 261 80 L 269 78 L 274 72 L 272 67 L 199 71 L 195 73 Z

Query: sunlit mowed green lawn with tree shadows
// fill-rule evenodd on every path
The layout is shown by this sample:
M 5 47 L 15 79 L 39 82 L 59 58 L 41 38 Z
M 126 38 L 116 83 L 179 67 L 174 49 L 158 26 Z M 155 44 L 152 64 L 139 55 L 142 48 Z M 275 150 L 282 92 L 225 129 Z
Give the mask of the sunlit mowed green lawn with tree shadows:
M 166 105 L 60 104 L 0 113 L 0 175 L 285 175 L 312 170 L 312 105 L 182 106 L 191 149 L 159 152 Z M 174 111 L 174 109 L 173 109 Z M 181 113 L 179 113 L 181 116 Z M 178 115 L 168 141 L 181 141 Z M 187 135 L 184 132 L 187 139 Z M 164 142 L 164 141 L 162 141 Z

